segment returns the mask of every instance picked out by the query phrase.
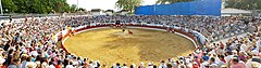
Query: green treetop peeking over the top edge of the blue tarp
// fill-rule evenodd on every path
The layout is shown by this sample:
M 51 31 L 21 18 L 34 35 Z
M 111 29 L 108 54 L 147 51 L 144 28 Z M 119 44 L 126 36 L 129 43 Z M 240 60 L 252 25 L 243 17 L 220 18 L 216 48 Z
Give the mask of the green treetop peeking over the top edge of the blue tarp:
M 169 4 L 169 3 L 175 3 L 175 2 L 188 2 L 194 0 L 158 0 L 157 3 L 160 4 Z

